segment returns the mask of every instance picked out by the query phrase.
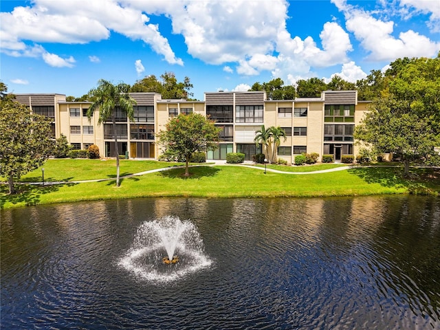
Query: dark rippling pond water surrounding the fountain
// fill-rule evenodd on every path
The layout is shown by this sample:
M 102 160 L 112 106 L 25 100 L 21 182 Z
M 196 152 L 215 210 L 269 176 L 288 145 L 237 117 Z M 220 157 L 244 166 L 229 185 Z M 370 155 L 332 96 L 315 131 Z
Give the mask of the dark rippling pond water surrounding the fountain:
M 140 275 L 159 248 L 127 270 L 142 228 L 168 216 L 194 226 L 203 267 Z M 427 197 L 1 210 L 1 329 L 440 329 L 439 260 L 440 200 Z

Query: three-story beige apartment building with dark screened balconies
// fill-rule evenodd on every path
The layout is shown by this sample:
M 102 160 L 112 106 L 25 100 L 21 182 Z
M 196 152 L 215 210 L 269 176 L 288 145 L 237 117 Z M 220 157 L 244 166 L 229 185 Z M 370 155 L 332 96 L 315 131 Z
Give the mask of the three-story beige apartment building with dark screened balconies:
M 245 159 L 261 153 L 256 131 L 262 125 L 285 131 L 277 158 L 294 163 L 296 155 L 331 155 L 336 162 L 344 155 L 357 155 L 353 130 L 370 101 L 358 101 L 357 91 L 324 91 L 320 98 L 267 100 L 264 91 L 206 92 L 203 101 L 164 100 L 157 93 L 131 93 L 137 101 L 134 120 L 116 111 L 116 134 L 121 155 L 158 159 L 161 153 L 155 133 L 164 130 L 170 118 L 180 113 L 208 115 L 221 128 L 219 148 L 207 159 L 226 159 L 227 153 L 244 153 Z M 91 102 L 67 102 L 63 94 L 17 94 L 17 101 L 32 112 L 52 120 L 52 133 L 63 133 L 74 149 L 100 148 L 103 157 L 115 157 L 111 122 L 98 125 L 98 110 L 87 118 Z

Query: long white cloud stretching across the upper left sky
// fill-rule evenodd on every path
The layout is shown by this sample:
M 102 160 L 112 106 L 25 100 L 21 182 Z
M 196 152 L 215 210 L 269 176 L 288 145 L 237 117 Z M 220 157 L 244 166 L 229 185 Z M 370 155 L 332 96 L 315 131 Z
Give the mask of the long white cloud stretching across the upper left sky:
M 144 41 L 170 64 L 183 65 L 157 25 L 148 23 L 142 10 L 129 3 L 122 6 L 116 0 L 94 0 L 85 4 L 76 0 L 34 0 L 31 6 L 1 12 L 2 52 L 22 56 L 17 48 L 29 47 L 24 41 L 81 44 L 108 39 L 114 31 Z

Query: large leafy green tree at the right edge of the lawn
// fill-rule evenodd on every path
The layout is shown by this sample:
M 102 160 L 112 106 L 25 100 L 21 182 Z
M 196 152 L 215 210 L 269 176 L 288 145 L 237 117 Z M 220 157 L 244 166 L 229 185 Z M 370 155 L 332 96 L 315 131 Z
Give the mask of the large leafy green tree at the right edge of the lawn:
M 426 162 L 440 146 L 440 57 L 391 63 L 386 88 L 375 98 L 354 137 L 377 153 L 401 155 L 404 176 L 410 161 Z

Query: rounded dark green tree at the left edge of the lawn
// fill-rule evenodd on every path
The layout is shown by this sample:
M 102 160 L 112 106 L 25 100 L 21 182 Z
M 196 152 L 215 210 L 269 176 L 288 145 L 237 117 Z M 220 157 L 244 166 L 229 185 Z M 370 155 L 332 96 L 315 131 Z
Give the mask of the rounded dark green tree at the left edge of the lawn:
M 8 179 L 14 194 L 14 179 L 39 168 L 52 152 L 50 120 L 35 115 L 19 102 L 0 103 L 0 175 Z

